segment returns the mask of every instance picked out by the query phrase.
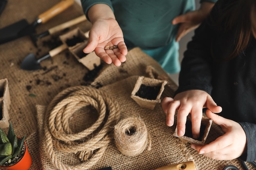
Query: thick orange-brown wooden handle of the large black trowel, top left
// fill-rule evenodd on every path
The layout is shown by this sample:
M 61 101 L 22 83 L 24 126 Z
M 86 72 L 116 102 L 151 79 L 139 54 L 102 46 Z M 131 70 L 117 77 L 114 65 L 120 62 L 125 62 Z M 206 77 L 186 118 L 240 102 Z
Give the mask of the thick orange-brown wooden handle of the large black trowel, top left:
M 65 11 L 65 9 L 70 7 L 72 4 L 74 4 L 74 0 L 61 0 L 61 2 L 54 5 L 51 9 L 45 11 L 44 13 L 41 13 L 38 18 L 41 20 L 41 23 L 45 23 L 49 19 Z

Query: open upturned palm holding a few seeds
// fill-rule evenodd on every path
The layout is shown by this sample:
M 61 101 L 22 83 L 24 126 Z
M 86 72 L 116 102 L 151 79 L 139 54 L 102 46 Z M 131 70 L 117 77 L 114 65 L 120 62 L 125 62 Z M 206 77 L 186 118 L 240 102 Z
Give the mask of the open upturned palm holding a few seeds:
M 118 49 L 106 49 L 106 46 L 117 45 Z M 89 32 L 88 45 L 83 49 L 84 53 L 95 51 L 104 62 L 120 66 L 126 61 L 128 53 L 124 36 L 117 21 L 112 18 L 96 20 Z

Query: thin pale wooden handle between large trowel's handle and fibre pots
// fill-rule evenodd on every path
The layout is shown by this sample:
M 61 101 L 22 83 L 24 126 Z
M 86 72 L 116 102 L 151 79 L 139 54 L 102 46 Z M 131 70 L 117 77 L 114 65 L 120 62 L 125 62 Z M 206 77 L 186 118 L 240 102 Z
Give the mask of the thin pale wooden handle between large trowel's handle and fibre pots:
M 53 34 L 53 33 L 56 33 L 56 32 L 58 32 L 58 31 L 61 31 L 61 30 L 63 30 L 63 29 L 66 29 L 66 28 L 68 28 L 68 27 L 70 27 L 70 26 L 73 26 L 73 25 L 75 25 L 75 24 L 78 24 L 78 23 L 80 23 L 80 22 L 83 22 L 83 21 L 85 21 L 85 20 L 86 20 L 85 15 L 81 15 L 81 16 L 78 17 L 78 18 L 75 18 L 75 19 L 73 19 L 73 20 L 64 22 L 63 24 L 60 24 L 60 25 L 57 25 L 57 26 L 54 26 L 54 27 L 50 28 L 50 29 L 48 30 L 48 32 L 49 32 L 49 34 Z

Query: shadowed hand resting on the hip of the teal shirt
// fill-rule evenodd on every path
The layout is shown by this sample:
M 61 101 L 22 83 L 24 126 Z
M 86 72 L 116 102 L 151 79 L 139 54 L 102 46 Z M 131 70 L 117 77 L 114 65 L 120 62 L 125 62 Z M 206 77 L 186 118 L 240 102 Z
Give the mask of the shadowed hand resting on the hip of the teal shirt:
M 173 24 L 180 24 L 177 32 L 176 41 L 180 41 L 184 35 L 195 29 L 207 17 L 211 8 L 214 6 L 212 2 L 202 2 L 200 9 L 189 11 L 183 15 L 173 19 Z

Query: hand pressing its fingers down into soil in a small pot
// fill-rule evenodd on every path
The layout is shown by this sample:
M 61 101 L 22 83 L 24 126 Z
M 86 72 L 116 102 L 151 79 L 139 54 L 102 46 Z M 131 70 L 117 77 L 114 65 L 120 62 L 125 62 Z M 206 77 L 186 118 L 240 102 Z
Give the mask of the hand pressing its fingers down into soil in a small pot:
M 166 113 L 167 126 L 173 126 L 174 115 L 177 112 L 177 134 L 185 134 L 186 119 L 191 113 L 192 134 L 197 139 L 200 135 L 200 126 L 202 120 L 202 109 L 207 107 L 214 113 L 220 113 L 222 108 L 217 106 L 212 97 L 205 91 L 190 90 L 178 93 L 174 99 L 165 97 L 162 101 L 162 108 Z

